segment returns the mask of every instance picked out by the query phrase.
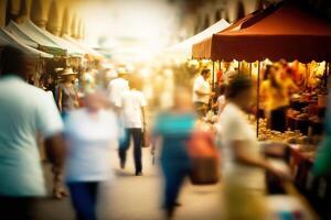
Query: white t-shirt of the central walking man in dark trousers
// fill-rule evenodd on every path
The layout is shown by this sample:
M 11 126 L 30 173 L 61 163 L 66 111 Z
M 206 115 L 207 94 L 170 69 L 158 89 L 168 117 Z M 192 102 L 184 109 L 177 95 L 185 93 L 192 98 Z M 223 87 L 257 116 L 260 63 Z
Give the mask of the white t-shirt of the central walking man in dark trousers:
M 121 109 L 121 116 L 126 128 L 142 128 L 141 108 L 147 106 L 141 91 L 129 90 L 121 94 L 116 106 Z

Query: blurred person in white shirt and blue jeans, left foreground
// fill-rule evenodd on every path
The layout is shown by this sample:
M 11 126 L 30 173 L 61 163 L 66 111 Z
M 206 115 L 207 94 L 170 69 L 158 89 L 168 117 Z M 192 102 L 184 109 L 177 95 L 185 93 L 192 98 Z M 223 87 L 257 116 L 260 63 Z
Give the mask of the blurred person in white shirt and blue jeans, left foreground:
M 113 178 L 111 148 L 122 131 L 114 112 L 105 110 L 106 96 L 89 90 L 85 108 L 65 121 L 67 141 L 66 183 L 77 220 L 96 220 L 98 190 Z

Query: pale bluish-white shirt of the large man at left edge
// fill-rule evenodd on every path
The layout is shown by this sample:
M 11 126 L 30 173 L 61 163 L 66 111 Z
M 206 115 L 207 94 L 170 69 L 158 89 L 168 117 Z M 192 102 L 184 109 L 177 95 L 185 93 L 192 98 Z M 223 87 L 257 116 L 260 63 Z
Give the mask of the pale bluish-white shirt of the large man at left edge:
M 46 194 L 35 136 L 62 131 L 52 96 L 17 76 L 0 78 L 0 195 Z

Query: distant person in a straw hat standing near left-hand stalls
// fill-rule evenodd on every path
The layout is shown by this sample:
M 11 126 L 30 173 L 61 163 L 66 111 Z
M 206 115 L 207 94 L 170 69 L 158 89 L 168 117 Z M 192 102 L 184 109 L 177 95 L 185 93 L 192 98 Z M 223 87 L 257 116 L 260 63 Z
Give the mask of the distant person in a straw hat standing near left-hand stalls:
M 74 73 L 71 67 L 65 68 L 61 74 L 63 82 L 58 88 L 57 105 L 63 118 L 65 118 L 70 111 L 78 108 L 78 95 L 73 84 L 73 77 L 75 75 L 76 73 Z

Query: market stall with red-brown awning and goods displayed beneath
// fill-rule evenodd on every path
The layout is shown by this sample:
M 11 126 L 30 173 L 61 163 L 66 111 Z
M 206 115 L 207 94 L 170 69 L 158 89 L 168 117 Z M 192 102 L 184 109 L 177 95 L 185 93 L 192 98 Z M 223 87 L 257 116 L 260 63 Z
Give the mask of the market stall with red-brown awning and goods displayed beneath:
M 306 178 L 310 180 L 312 178 L 307 174 L 311 176 L 312 173 L 311 167 L 321 138 L 321 122 L 325 111 L 325 79 L 330 76 L 329 62 L 331 61 L 330 24 L 312 15 L 293 1 L 279 2 L 266 10 L 249 14 L 223 32 L 195 44 L 192 47 L 192 55 L 193 58 L 209 58 L 213 62 L 235 59 L 238 68 L 242 67 L 241 62 L 249 62 L 250 73 L 252 64 L 254 64 L 257 69 L 255 76 L 258 94 L 256 112 L 260 103 L 263 65 L 285 59 L 286 65 L 296 70 L 291 78 L 300 90 L 290 100 L 290 110 L 287 113 L 289 130 L 279 132 L 268 129 L 267 121 L 259 120 L 258 113 L 256 113 L 256 119 L 252 120 L 256 121 L 257 135 L 260 140 L 281 141 L 288 144 L 296 185 L 307 186 Z M 320 70 L 317 70 L 318 68 Z M 241 70 L 237 73 L 241 74 Z M 299 173 L 298 167 L 301 167 Z M 328 178 L 322 179 L 324 180 L 312 182 L 322 183 L 321 195 L 327 198 L 331 185 L 330 180 L 325 182 Z M 319 190 L 310 191 L 316 194 Z M 308 198 L 311 197 L 319 196 L 310 195 Z M 311 201 L 313 204 L 314 200 Z M 324 200 L 324 204 L 330 204 L 330 201 Z

